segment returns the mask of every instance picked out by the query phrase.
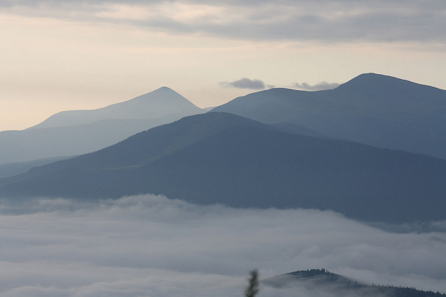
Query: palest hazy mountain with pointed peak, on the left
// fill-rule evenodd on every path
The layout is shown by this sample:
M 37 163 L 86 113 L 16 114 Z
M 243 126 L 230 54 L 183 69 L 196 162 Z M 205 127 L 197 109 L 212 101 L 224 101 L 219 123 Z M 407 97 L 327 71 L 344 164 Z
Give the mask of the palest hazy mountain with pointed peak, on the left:
M 105 108 L 57 113 L 24 131 L 1 131 L 0 164 L 93 152 L 197 113 L 203 110 L 168 87 Z

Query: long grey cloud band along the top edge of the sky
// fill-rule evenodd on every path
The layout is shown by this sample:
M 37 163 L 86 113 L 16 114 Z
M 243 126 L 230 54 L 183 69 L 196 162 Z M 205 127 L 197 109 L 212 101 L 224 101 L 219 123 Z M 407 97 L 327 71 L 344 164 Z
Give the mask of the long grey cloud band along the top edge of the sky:
M 159 5 L 178 1 L 1 1 L 0 7 L 13 13 L 33 13 L 75 21 L 119 22 L 148 30 L 174 34 L 206 34 L 248 40 L 292 40 L 321 42 L 393 42 L 431 41 L 446 43 L 446 5 L 433 1 L 186 1 L 222 7 L 217 15 L 178 20 L 162 10 L 144 20 L 116 20 L 98 12 L 110 10 L 110 4 L 141 4 L 155 11 Z M 23 7 L 31 7 L 21 10 Z M 73 17 L 73 9 L 77 11 Z M 81 11 L 83 13 L 81 13 Z M 217 18 L 224 22 L 215 22 Z M 231 21 L 229 21 L 231 20 Z

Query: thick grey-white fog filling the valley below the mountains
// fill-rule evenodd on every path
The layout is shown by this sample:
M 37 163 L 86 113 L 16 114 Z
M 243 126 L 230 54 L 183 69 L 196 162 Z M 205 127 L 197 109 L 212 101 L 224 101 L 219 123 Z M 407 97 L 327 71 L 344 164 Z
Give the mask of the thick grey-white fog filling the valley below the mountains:
M 445 227 L 392 233 L 330 211 L 240 210 L 150 195 L 2 203 L 0 296 L 243 296 L 253 268 L 261 278 L 326 268 L 446 292 Z M 259 296 L 312 294 L 296 290 L 262 285 Z

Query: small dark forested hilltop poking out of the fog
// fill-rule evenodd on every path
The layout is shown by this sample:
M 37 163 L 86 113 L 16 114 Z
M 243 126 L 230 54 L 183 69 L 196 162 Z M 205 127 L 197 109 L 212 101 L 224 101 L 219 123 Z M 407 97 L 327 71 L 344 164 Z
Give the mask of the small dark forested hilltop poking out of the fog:
M 285 275 L 270 277 L 263 281 L 269 287 L 305 287 L 319 289 L 334 296 L 387 296 L 387 297 L 446 297 L 439 291 L 422 291 L 414 287 L 362 284 L 348 277 L 330 273 L 325 269 L 299 270 Z

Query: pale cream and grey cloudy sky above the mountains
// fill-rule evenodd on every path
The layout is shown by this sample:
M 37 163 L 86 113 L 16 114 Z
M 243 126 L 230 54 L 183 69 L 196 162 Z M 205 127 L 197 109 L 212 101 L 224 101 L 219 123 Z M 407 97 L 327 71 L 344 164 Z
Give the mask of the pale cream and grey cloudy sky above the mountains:
M 0 0 L 0 36 L 0 131 L 162 86 L 202 108 L 368 72 L 446 89 L 445 0 Z

